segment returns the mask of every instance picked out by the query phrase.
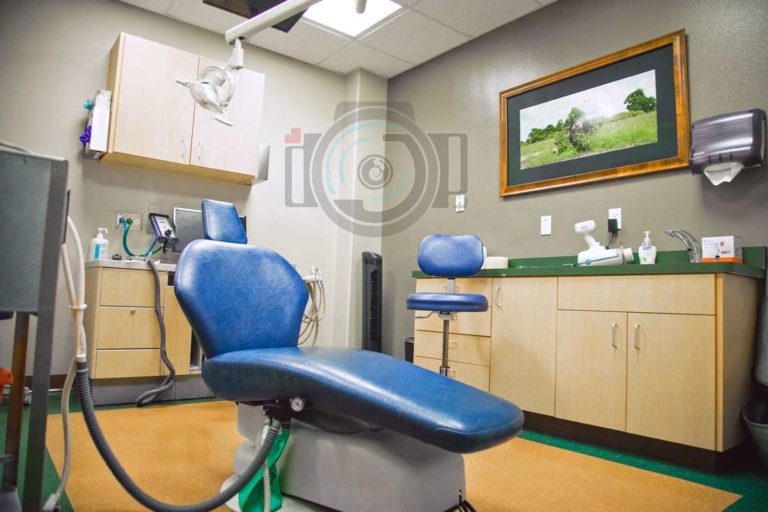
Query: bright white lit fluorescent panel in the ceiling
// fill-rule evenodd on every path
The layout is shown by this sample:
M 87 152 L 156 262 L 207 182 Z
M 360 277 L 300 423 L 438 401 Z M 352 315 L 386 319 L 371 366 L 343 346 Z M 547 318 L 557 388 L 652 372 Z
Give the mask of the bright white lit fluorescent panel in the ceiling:
M 358 14 L 355 3 L 354 0 L 323 0 L 307 9 L 304 17 L 355 37 L 401 8 L 392 0 L 368 0 L 365 12 Z

